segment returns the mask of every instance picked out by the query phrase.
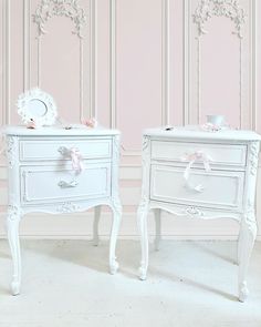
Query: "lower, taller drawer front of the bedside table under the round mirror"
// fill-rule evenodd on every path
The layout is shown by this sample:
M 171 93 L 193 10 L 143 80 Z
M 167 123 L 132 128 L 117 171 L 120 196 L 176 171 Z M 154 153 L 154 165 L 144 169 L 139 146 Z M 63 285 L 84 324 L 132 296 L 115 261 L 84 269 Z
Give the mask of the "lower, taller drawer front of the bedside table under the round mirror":
M 22 167 L 21 202 L 25 205 L 63 200 L 90 200 L 111 195 L 111 164 L 85 164 L 75 175 L 64 167 Z

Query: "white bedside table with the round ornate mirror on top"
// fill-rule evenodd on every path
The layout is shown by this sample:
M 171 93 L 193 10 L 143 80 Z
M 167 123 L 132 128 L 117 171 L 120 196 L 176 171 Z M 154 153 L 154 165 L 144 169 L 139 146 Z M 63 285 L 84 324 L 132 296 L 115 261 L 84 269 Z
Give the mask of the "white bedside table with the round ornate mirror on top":
M 119 132 L 105 129 L 28 130 L 8 126 L 7 156 L 9 206 L 7 232 L 13 259 L 12 294 L 19 294 L 21 257 L 19 223 L 24 214 L 75 213 L 95 207 L 94 241 L 101 205 L 114 213 L 109 245 L 109 269 L 116 273 L 116 238 L 122 217 L 118 197 Z M 77 153 L 83 168 L 72 167 L 72 151 Z

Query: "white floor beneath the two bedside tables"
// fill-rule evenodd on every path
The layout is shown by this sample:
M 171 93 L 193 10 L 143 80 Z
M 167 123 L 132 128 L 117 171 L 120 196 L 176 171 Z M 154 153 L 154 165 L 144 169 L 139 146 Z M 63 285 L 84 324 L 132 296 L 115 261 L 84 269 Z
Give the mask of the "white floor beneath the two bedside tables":
M 107 252 L 107 242 L 22 239 L 22 289 L 13 297 L 9 248 L 0 241 L 0 327 L 261 326 L 261 243 L 244 304 L 237 300 L 234 242 L 163 241 L 150 251 L 146 282 L 137 278 L 138 242 L 118 243 L 115 276 Z

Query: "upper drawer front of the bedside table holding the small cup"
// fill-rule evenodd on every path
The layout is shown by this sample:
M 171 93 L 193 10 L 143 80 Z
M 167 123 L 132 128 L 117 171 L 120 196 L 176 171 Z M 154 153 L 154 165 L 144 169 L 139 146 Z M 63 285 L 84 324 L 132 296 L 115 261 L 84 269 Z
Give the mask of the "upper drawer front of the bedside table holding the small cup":
M 217 165 L 246 166 L 247 145 L 153 141 L 152 159 L 181 162 L 182 157 L 202 152 Z

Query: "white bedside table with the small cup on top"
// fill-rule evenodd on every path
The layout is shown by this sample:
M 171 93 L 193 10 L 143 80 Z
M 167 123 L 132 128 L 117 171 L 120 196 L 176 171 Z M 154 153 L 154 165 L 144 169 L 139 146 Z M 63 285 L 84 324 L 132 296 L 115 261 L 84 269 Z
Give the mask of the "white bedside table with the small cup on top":
M 194 219 L 233 218 L 241 224 L 239 299 L 248 295 L 247 269 L 257 235 L 255 182 L 261 136 L 251 131 L 199 127 L 152 129 L 143 139 L 143 188 L 138 207 L 140 279 L 148 268 L 147 213 L 154 210 L 156 247 L 160 211 Z

